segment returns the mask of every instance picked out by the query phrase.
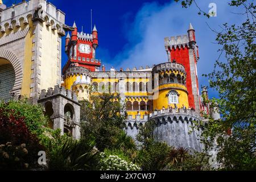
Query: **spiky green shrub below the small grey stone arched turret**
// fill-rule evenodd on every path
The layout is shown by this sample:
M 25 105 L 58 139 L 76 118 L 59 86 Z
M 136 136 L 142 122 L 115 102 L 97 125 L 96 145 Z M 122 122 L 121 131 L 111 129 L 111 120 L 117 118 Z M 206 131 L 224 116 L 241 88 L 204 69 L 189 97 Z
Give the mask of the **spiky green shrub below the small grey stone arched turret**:
M 98 163 L 98 151 L 91 143 L 74 140 L 60 129 L 52 130 L 44 137 L 49 170 L 93 170 Z

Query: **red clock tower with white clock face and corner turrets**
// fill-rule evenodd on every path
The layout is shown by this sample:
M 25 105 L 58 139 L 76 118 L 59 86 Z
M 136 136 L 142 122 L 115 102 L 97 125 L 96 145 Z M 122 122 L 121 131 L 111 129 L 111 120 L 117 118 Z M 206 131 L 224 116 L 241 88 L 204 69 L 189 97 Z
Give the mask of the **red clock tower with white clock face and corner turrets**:
M 101 61 L 95 58 L 96 48 L 98 47 L 96 26 L 94 25 L 92 34 L 78 32 L 75 22 L 73 28 L 71 36 L 68 33 L 65 42 L 65 53 L 68 55 L 68 61 L 63 68 L 63 73 L 72 63 L 77 63 L 80 67 L 87 68 L 91 72 L 98 71 Z

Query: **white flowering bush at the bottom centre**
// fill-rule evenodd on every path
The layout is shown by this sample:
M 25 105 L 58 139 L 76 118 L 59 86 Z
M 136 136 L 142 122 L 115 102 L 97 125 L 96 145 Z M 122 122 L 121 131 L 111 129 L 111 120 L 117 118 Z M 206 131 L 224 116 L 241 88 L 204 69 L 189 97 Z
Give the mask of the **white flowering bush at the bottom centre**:
M 131 162 L 119 158 L 117 155 L 106 156 L 104 152 L 100 153 L 101 171 L 138 171 L 140 168 Z

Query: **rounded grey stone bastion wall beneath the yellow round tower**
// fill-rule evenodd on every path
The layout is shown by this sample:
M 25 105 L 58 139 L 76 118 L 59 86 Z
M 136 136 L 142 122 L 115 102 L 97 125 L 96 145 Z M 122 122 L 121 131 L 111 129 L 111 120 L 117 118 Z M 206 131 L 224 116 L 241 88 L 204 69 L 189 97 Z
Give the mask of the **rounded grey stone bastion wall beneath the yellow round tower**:
M 148 119 L 154 119 L 154 137 L 159 142 L 166 142 L 170 146 L 185 147 L 191 151 L 203 151 L 200 143 L 200 130 L 192 129 L 193 121 L 198 121 L 200 115 L 193 110 L 166 110 L 154 111 L 146 119 L 127 119 L 126 133 L 136 140 L 139 126 L 144 125 Z

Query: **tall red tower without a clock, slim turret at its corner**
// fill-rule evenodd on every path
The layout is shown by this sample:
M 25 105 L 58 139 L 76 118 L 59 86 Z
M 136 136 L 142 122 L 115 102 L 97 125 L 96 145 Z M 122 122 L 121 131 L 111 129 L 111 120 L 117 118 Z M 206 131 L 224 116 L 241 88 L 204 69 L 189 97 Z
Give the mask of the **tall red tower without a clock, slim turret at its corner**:
M 189 107 L 200 113 L 199 83 L 197 77 L 197 61 L 199 60 L 195 30 L 189 24 L 188 34 L 172 36 L 164 39 L 168 61 L 183 64 L 187 72 L 186 87 L 188 90 Z

